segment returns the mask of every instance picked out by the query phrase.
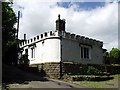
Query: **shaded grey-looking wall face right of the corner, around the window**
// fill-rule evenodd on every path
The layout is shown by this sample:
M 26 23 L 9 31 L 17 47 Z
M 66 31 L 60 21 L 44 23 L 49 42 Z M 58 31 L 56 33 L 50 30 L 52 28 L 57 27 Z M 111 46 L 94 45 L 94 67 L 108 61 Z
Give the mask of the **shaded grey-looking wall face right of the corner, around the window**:
M 81 46 L 79 41 L 71 39 L 62 40 L 62 60 L 64 62 L 78 62 L 82 64 L 102 64 L 102 49 L 97 45 L 89 47 L 90 59 L 81 59 Z

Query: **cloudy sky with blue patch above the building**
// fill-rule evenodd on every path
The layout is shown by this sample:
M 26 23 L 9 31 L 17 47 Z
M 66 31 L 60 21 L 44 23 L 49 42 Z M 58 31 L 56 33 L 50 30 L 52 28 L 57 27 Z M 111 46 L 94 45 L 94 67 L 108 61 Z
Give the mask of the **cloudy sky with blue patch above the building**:
M 103 41 L 108 51 L 118 47 L 118 3 L 111 2 L 61 2 L 52 0 L 13 0 L 17 15 L 21 11 L 19 39 L 27 39 L 48 31 L 55 31 L 58 14 L 66 20 L 66 32 Z

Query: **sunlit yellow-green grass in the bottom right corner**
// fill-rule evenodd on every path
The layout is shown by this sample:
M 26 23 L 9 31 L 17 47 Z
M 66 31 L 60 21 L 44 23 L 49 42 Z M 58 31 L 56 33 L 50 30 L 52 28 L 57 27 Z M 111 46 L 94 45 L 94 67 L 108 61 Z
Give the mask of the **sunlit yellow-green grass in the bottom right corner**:
M 107 81 L 75 81 L 73 83 L 90 88 L 118 88 L 118 78 L 120 74 L 112 75 L 114 79 Z

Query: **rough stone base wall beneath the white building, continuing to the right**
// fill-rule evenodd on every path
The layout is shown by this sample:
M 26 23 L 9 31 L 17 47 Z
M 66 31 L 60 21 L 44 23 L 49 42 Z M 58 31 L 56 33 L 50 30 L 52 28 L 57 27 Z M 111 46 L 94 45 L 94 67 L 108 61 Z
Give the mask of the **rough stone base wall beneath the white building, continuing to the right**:
M 46 76 L 50 78 L 60 79 L 66 75 L 77 75 L 83 73 L 85 68 L 88 66 L 93 66 L 98 70 L 103 72 L 108 72 L 111 74 L 120 73 L 120 66 L 111 65 L 83 65 L 78 63 L 42 63 L 36 65 L 39 72 L 44 72 Z

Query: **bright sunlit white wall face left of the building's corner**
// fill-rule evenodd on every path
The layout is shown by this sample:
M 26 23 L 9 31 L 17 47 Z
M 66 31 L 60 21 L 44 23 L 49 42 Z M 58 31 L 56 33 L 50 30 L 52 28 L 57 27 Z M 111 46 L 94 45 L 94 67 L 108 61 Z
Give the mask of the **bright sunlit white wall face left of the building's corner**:
M 44 42 L 44 43 L 43 43 Z M 60 39 L 45 39 L 36 43 L 35 58 L 31 58 L 31 49 L 28 50 L 30 64 L 45 62 L 60 62 Z

